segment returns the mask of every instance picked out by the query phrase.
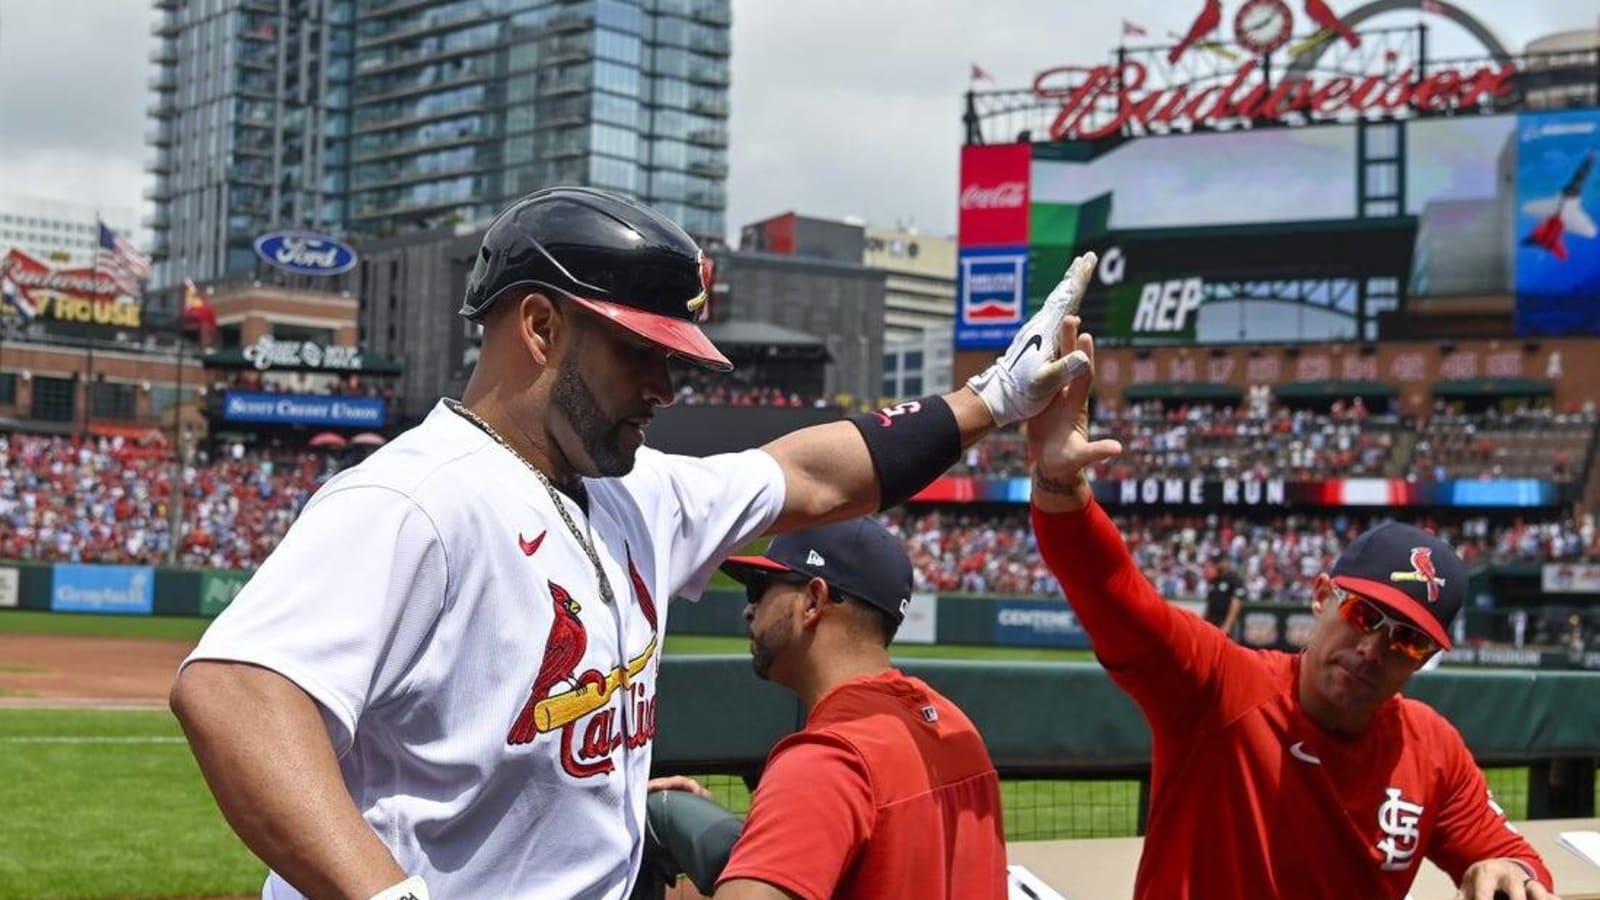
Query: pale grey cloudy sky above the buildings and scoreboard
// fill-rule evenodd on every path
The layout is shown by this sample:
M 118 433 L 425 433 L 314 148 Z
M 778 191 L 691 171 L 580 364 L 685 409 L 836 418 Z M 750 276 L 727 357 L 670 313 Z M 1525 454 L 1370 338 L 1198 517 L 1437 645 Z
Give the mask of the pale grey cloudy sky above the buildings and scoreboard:
M 1595 22 L 1594 0 L 1456 2 L 1512 50 Z M 1040 69 L 1104 61 L 1123 18 L 1158 38 L 1186 30 L 1197 10 L 1198 0 L 734 0 L 730 229 L 798 210 L 954 232 L 973 62 L 1000 86 L 1026 86 Z M 0 0 L 0 194 L 141 203 L 152 18 L 144 0 Z M 1472 53 L 1451 30 L 1438 29 L 1437 45 Z

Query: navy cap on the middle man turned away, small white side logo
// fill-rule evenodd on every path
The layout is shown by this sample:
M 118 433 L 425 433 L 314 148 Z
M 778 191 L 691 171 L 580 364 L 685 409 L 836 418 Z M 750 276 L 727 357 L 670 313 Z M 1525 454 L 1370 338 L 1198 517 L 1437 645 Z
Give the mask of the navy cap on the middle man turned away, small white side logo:
M 773 572 L 797 572 L 827 581 L 906 621 L 910 607 L 910 557 L 877 519 L 851 519 L 773 538 L 765 556 L 730 556 L 722 570 L 734 581 Z

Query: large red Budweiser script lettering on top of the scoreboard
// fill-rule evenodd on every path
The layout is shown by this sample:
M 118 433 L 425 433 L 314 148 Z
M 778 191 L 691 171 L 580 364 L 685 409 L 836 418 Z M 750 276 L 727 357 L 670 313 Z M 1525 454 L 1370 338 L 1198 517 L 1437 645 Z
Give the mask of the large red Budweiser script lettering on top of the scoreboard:
M 1120 135 L 1218 127 L 1246 122 L 1310 122 L 1365 114 L 1397 115 L 1470 109 L 1512 91 L 1512 66 L 1467 72 L 1438 69 L 1419 77 L 1414 69 L 1384 75 L 1334 75 L 1266 85 L 1261 62 L 1251 59 L 1227 82 L 1208 86 L 1147 88 L 1142 62 L 1061 66 L 1034 77 L 1034 96 L 1061 102 L 1050 127 L 1054 141 L 1093 141 Z M 962 195 L 966 207 L 966 194 Z

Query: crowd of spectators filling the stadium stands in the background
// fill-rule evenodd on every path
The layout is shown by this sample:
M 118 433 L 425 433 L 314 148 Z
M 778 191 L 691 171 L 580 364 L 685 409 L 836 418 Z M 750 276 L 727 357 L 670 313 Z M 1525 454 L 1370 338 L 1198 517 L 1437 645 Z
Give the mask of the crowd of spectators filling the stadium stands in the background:
M 774 388 L 744 388 L 750 391 L 749 402 L 773 402 L 755 396 Z M 683 402 L 707 397 L 694 394 L 691 386 L 685 389 Z M 1502 472 L 1509 468 L 1514 474 L 1549 477 L 1554 471 L 1578 477 L 1590 452 L 1594 423 L 1592 410 L 1435 413 L 1414 439 L 1414 477 L 1486 474 L 1496 464 Z M 1358 405 L 1309 413 L 1136 404 L 1115 413 L 1102 410 L 1096 420 L 1096 432 L 1123 437 L 1131 445 L 1130 453 L 1098 477 L 1206 471 L 1259 477 L 1382 474 L 1408 428 L 1368 416 Z M 970 450 L 955 472 L 1024 476 L 1026 456 L 1021 434 L 1000 434 Z M 179 562 L 216 569 L 258 565 L 339 464 L 338 455 L 262 453 L 242 445 L 227 447 L 219 458 L 198 453 L 181 480 Z M 0 432 L 0 559 L 165 564 L 171 488 L 165 447 L 142 447 L 120 437 L 78 440 Z M 1038 560 L 1026 509 L 917 506 L 891 511 L 885 519 L 910 549 L 918 589 L 995 594 L 1056 589 Z M 1288 602 L 1304 601 L 1307 575 L 1325 570 L 1344 541 L 1370 524 L 1365 516 L 1342 512 L 1120 519 L 1144 572 L 1166 596 L 1202 594 L 1213 560 L 1227 557 L 1251 599 Z M 1494 522 L 1454 517 L 1419 524 L 1454 543 L 1469 564 L 1600 559 L 1594 516 Z

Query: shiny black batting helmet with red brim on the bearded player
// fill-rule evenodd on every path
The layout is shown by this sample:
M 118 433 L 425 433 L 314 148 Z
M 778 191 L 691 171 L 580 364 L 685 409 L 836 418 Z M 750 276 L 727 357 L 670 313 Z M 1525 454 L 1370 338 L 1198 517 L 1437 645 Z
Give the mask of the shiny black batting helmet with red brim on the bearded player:
M 549 187 L 490 224 L 461 314 L 474 322 L 514 288 L 560 293 L 706 368 L 733 364 L 699 330 L 710 259 L 672 219 L 594 187 Z

